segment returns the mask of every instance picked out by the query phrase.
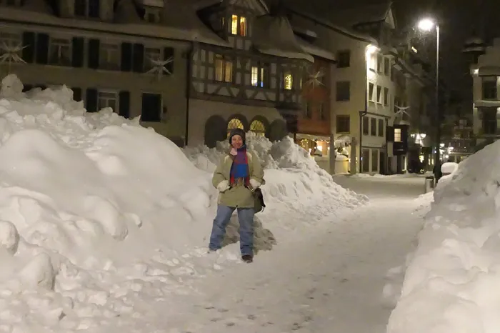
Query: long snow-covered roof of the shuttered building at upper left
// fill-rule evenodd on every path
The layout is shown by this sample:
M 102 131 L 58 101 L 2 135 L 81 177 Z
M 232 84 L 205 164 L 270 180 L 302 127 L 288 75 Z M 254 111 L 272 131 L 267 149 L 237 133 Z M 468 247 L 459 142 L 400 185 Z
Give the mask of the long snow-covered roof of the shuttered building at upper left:
M 176 0 L 177 1 L 177 0 Z M 174 1 L 169 0 L 169 4 L 174 3 Z M 172 13 L 170 16 L 174 16 L 176 13 Z M 173 39 L 178 41 L 198 41 L 204 44 L 212 44 L 217 46 L 229 47 L 229 43 L 221 39 L 214 32 L 206 28 L 201 21 L 199 24 L 201 26 L 194 26 L 193 21 L 188 21 L 190 12 L 183 9 L 181 12 L 177 13 L 179 17 L 177 21 L 182 21 L 181 18 L 186 19 L 183 26 L 176 26 L 174 21 L 173 26 L 169 26 L 169 20 L 166 24 L 152 25 L 148 23 L 138 23 L 138 24 L 113 24 L 109 22 L 99 22 L 99 21 L 87 21 L 78 19 L 65 19 L 59 18 L 51 14 L 44 14 L 39 12 L 26 13 L 24 9 L 15 8 L 2 8 L 0 11 L 0 19 L 5 21 L 15 21 L 25 24 L 44 24 L 46 26 L 61 27 L 65 26 L 74 29 L 88 29 L 91 31 L 102 31 L 111 34 L 130 34 L 136 36 L 147 36 L 151 38 L 165 38 Z M 196 17 L 196 13 L 192 13 Z

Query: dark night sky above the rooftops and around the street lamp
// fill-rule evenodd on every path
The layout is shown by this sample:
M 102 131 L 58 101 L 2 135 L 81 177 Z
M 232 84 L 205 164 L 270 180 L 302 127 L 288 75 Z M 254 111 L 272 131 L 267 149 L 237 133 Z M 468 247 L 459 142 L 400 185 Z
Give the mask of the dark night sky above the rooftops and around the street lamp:
M 273 0 L 271 0 L 273 1 Z M 381 0 L 284 0 L 304 6 L 316 14 L 363 4 L 379 4 Z M 464 42 L 476 34 L 486 39 L 500 36 L 499 0 L 395 0 L 393 2 L 396 24 L 400 29 L 414 26 L 419 17 L 431 16 L 441 26 L 441 78 L 451 90 L 459 91 L 466 104 L 471 101 L 469 59 L 461 50 Z M 325 15 L 324 15 L 325 16 Z M 327 17 L 326 17 L 327 19 Z M 435 41 L 422 36 L 434 54 Z M 433 58 L 434 59 L 434 58 Z M 431 59 L 431 61 L 434 61 Z

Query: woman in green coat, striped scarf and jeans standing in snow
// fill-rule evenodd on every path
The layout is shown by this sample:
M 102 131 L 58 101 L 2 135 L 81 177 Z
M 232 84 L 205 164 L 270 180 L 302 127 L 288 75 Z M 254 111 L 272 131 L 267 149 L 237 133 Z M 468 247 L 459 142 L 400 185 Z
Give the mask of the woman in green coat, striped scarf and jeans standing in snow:
M 264 170 L 259 159 L 246 151 L 245 132 L 233 129 L 229 135 L 229 154 L 224 156 L 214 172 L 212 184 L 219 190 L 217 214 L 210 236 L 210 251 L 221 248 L 226 227 L 238 209 L 241 259 L 254 258 L 254 196 L 252 192 L 264 184 Z

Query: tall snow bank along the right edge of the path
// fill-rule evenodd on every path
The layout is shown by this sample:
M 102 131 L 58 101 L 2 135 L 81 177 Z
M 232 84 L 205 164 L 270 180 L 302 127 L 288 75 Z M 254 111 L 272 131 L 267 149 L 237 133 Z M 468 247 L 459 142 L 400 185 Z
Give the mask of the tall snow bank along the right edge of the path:
M 388 333 L 500 327 L 500 142 L 441 178 Z

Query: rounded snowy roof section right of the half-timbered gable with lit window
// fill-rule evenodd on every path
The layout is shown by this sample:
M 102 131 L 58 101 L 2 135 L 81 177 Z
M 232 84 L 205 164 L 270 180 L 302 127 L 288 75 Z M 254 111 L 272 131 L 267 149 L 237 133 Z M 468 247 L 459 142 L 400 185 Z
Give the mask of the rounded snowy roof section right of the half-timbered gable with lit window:
M 252 41 L 261 53 L 314 62 L 314 58 L 297 41 L 290 22 L 284 16 L 257 17 L 253 32 Z

